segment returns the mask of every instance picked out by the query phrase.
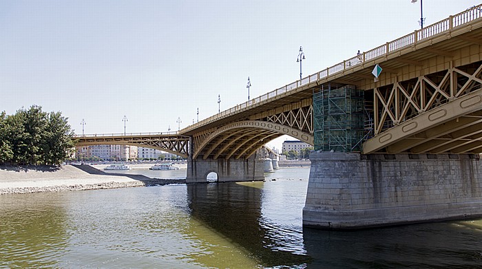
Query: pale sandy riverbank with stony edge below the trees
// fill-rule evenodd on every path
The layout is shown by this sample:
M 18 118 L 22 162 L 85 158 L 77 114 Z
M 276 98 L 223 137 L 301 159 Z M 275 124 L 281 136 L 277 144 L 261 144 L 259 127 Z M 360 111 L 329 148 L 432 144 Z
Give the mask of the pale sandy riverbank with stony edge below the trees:
M 89 165 L 0 166 L 0 195 L 182 183 L 185 183 L 185 180 L 163 180 L 145 175 L 106 173 Z

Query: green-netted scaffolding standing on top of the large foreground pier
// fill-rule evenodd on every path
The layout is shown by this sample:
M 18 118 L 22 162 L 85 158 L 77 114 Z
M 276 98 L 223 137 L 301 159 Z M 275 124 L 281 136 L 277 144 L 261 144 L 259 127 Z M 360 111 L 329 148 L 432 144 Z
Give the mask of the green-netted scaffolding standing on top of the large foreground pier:
M 315 150 L 361 151 L 365 129 L 364 92 L 345 85 L 313 93 Z

